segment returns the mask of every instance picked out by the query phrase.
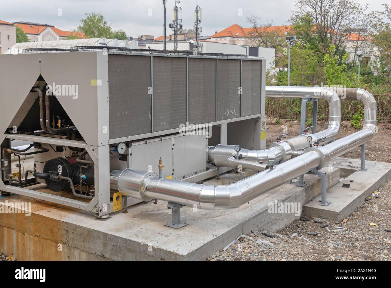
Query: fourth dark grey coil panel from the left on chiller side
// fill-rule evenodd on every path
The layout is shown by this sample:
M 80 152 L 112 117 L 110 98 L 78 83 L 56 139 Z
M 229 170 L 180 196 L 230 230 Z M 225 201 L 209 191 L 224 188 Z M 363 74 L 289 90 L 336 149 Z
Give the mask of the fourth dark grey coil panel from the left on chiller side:
M 219 59 L 217 120 L 240 117 L 240 60 Z

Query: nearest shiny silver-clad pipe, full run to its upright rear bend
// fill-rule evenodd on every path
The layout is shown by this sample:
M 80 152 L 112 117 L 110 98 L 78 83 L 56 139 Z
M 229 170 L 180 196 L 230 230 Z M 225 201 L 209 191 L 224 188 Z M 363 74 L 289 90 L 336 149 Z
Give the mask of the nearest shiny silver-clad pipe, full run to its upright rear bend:
M 127 168 L 123 171 L 114 170 L 111 172 L 110 188 L 119 191 L 122 195 L 143 201 L 159 199 L 186 206 L 196 205 L 198 208 L 207 210 L 237 208 L 314 168 L 319 170 L 325 167 L 330 160 L 358 147 L 373 137 L 377 127 L 376 101 L 368 91 L 363 89 L 350 90 L 349 99 L 355 98 L 364 104 L 363 129 L 326 146 L 310 147 L 305 150 L 304 154 L 271 169 L 230 185 L 213 186 L 159 178 L 154 172 Z M 292 92 L 293 94 L 294 92 Z M 340 116 L 337 119 L 340 119 Z

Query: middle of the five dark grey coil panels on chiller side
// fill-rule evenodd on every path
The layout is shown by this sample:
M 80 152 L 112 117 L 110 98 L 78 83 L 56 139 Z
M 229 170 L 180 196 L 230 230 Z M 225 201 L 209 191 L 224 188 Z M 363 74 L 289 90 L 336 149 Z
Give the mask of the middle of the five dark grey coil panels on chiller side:
M 189 58 L 189 122 L 216 121 L 216 60 Z

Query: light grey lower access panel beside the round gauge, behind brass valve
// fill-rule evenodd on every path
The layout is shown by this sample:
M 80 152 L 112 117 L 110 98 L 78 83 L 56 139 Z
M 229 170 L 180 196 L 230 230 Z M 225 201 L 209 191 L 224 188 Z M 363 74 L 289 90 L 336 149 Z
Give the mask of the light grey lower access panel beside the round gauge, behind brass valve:
M 153 171 L 159 175 L 159 159 L 163 160 L 163 177 L 172 176 L 172 138 L 133 143 L 129 166 L 145 171 Z

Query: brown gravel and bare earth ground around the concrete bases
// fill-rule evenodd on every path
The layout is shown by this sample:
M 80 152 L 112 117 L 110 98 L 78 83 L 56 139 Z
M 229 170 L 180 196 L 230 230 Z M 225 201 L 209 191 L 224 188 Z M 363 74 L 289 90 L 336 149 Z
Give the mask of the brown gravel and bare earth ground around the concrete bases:
M 267 123 L 267 146 L 288 129 L 291 138 L 300 133 L 299 122 Z M 344 121 L 339 138 L 357 130 Z M 318 130 L 327 123 L 318 123 Z M 391 162 L 391 126 L 379 125 L 378 133 L 366 144 L 366 159 Z M 360 158 L 360 149 L 354 149 L 342 157 Z M 296 220 L 278 233 L 253 231 L 240 237 L 225 251 L 218 251 L 208 261 L 391 261 L 391 181 L 377 190 L 370 200 L 363 203 L 341 223 L 315 219 L 323 223 Z M 369 224 L 371 223 L 371 224 Z M 343 231 L 329 232 L 337 227 Z M 262 233 L 266 233 L 268 237 Z M 309 235 L 311 233 L 312 235 Z M 233 239 L 234 240 L 234 239 Z

